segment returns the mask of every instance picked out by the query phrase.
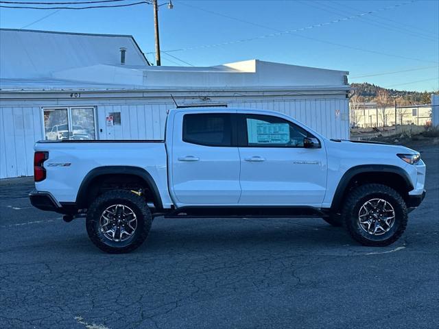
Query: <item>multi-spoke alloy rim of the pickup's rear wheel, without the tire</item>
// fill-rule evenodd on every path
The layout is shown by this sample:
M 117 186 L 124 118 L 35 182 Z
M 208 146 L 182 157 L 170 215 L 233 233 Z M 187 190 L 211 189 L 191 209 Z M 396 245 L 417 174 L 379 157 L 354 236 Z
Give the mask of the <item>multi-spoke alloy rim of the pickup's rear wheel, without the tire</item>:
M 102 212 L 99 230 L 110 241 L 121 242 L 130 239 L 137 228 L 137 216 L 123 204 L 113 204 Z

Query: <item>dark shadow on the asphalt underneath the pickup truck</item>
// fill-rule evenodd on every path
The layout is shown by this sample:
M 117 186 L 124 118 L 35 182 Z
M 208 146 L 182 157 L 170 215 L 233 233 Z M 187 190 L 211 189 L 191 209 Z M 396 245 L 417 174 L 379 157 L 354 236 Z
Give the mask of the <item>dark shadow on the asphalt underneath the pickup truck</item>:
M 86 235 L 84 222 L 77 219 L 64 224 L 75 232 L 56 234 L 47 239 L 32 241 L 26 247 L 38 252 L 54 250 L 62 254 L 103 255 Z M 74 228 L 73 228 L 74 226 Z M 343 228 L 333 228 L 321 219 L 163 219 L 158 218 L 150 234 L 129 255 L 169 256 L 190 253 L 211 254 L 336 254 L 348 256 L 352 252 L 385 252 L 403 245 L 404 236 L 389 247 L 364 247 L 353 241 Z M 242 256 L 242 255 L 241 255 Z M 128 258 L 131 258 L 128 256 Z

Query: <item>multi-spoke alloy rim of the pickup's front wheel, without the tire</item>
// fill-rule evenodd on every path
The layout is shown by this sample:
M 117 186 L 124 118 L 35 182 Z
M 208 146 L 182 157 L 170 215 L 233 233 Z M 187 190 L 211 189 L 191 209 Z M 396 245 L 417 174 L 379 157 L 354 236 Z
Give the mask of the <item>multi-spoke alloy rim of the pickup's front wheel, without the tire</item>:
M 368 234 L 385 234 L 394 226 L 395 210 L 384 199 L 370 199 L 359 209 L 358 222 Z

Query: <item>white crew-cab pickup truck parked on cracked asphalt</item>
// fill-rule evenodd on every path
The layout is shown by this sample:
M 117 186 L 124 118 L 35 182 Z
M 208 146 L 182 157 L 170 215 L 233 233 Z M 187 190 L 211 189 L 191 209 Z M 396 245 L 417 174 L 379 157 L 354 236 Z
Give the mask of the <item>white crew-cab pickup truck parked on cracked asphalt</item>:
M 280 112 L 170 110 L 165 141 L 40 141 L 36 208 L 86 215 L 110 253 L 165 217 L 322 217 L 364 245 L 393 243 L 425 196 L 425 164 L 403 146 L 327 139 Z

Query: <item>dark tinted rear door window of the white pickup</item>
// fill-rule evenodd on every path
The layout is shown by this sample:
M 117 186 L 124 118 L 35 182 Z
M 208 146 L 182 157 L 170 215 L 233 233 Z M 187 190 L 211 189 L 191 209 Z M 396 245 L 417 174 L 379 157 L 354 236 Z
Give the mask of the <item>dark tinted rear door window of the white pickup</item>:
M 183 141 L 205 146 L 232 145 L 229 113 L 185 114 Z

